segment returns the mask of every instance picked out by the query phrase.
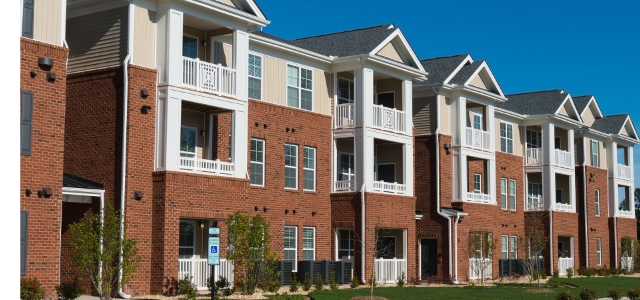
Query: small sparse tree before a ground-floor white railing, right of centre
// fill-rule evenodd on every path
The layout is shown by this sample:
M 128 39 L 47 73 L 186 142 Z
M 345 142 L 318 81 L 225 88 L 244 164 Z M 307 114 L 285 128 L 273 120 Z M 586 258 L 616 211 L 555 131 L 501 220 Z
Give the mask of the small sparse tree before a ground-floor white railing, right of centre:
M 484 285 L 485 271 L 493 263 L 493 253 L 499 242 L 497 237 L 489 231 L 469 233 L 469 263 L 472 271 L 478 276 L 480 284 Z

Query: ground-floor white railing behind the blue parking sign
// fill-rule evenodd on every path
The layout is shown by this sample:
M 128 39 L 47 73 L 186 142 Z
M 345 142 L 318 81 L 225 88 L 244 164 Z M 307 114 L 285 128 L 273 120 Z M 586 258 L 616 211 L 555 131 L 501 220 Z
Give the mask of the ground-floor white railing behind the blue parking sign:
M 225 277 L 233 285 L 233 262 L 220 259 L 220 265 L 215 266 L 216 278 Z M 207 259 L 178 259 L 178 278 L 191 278 L 198 290 L 207 289 L 207 280 L 211 276 L 211 266 L 207 264 Z

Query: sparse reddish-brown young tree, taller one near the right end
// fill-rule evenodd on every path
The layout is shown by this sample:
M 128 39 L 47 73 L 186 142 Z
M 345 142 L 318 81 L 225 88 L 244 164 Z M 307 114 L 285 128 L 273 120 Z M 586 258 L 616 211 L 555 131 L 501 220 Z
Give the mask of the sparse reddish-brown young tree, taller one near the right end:
M 524 229 L 524 237 L 520 238 L 518 248 L 518 261 L 522 264 L 529 282 L 533 281 L 533 273 L 538 270 L 540 265 L 540 255 L 545 249 L 548 237 L 545 235 L 544 224 L 547 212 L 535 211 L 527 213 L 527 225 Z M 538 276 L 538 289 L 541 288 L 540 277 Z

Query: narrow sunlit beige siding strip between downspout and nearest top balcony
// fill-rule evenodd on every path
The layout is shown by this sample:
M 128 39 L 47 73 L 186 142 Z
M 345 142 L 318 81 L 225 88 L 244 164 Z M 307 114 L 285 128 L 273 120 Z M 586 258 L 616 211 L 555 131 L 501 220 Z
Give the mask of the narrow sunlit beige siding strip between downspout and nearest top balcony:
M 133 10 L 133 64 L 156 67 L 156 12 L 135 6 Z

